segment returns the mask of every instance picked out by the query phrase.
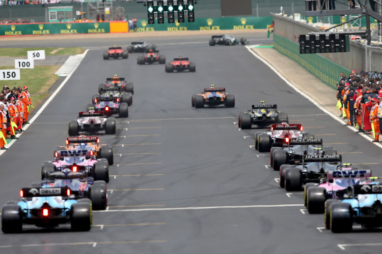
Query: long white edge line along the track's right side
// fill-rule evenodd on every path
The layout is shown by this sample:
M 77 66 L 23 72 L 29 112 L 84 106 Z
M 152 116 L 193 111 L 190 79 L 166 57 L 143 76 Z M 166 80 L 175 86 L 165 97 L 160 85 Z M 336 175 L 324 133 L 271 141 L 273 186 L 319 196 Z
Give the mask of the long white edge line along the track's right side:
M 315 100 L 313 100 L 310 96 L 308 96 L 308 94 L 306 94 L 305 92 L 299 90 L 295 85 L 293 85 L 291 82 L 289 82 L 278 70 L 276 70 L 275 67 L 273 67 L 269 62 L 267 62 L 264 58 L 262 58 L 261 56 L 259 56 L 258 54 L 255 53 L 255 51 L 253 51 L 251 49 L 251 45 L 247 45 L 245 46 L 248 51 L 254 55 L 257 59 L 259 59 L 260 61 L 262 61 L 266 66 L 268 66 L 272 71 L 274 71 L 282 80 L 284 80 L 285 83 L 287 83 L 290 87 L 292 87 L 296 92 L 298 92 L 299 94 L 301 94 L 303 97 L 305 97 L 306 99 L 308 99 L 311 103 L 313 103 L 317 108 L 319 108 L 320 110 L 322 110 L 323 112 L 325 112 L 326 114 L 330 115 L 333 119 L 335 119 L 336 121 L 340 122 L 342 125 L 344 123 L 344 121 L 342 119 L 339 119 L 338 116 L 334 115 L 332 112 L 329 112 L 328 110 L 326 110 L 325 108 L 323 108 L 318 102 L 316 102 Z M 334 105 L 333 105 L 334 106 Z M 352 128 L 350 126 L 347 126 L 348 129 L 352 130 L 353 132 L 357 132 L 358 130 L 356 128 Z M 369 140 L 369 141 L 372 141 L 373 139 L 368 137 L 366 134 L 363 134 L 363 133 L 360 133 L 360 135 L 362 137 L 364 137 L 365 139 Z M 374 145 L 382 148 L 382 144 L 379 144 L 379 143 L 373 143 Z

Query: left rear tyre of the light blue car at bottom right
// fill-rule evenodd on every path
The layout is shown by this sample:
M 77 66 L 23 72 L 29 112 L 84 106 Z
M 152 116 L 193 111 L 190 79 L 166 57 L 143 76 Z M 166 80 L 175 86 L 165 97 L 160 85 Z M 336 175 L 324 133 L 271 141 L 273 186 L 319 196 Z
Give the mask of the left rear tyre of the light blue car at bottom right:
M 350 232 L 352 228 L 351 205 L 349 203 L 333 203 L 330 214 L 330 229 L 333 233 Z

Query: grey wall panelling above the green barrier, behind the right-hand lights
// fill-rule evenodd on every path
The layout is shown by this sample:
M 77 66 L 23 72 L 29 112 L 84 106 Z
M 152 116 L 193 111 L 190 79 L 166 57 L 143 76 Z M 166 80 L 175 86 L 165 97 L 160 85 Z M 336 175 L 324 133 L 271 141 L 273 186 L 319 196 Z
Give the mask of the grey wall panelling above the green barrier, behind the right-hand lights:
M 306 35 L 311 31 L 322 31 L 288 17 L 275 14 L 272 14 L 272 16 L 275 21 L 275 33 L 296 43 L 298 43 L 298 35 Z M 324 53 L 321 55 L 349 70 L 382 72 L 382 48 L 379 46 L 367 46 L 366 54 L 364 44 L 350 41 L 350 52 Z

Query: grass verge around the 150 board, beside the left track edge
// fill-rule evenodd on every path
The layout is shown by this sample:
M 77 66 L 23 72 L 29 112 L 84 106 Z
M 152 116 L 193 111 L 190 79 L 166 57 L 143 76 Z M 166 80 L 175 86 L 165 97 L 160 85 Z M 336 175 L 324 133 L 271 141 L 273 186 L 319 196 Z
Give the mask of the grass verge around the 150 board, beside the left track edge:
M 35 69 L 20 69 L 20 80 L 0 80 L 0 88 L 7 84 L 11 89 L 13 87 L 25 85 L 31 93 L 32 106 L 36 107 L 48 96 L 48 89 L 60 78 L 54 74 L 60 66 L 35 66 Z M 14 69 L 14 66 L 2 66 L 2 70 Z M 33 111 L 33 108 L 31 108 Z

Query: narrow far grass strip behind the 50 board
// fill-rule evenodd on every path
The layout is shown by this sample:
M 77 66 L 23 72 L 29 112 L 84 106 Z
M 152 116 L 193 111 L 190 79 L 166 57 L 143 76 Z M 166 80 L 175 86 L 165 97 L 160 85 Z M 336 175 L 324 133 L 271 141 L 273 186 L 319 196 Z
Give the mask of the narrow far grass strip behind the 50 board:
M 0 56 L 28 56 L 26 51 L 30 50 L 43 50 L 45 49 L 45 55 L 76 55 L 84 53 L 84 48 L 72 47 L 72 48 L 0 48 Z

